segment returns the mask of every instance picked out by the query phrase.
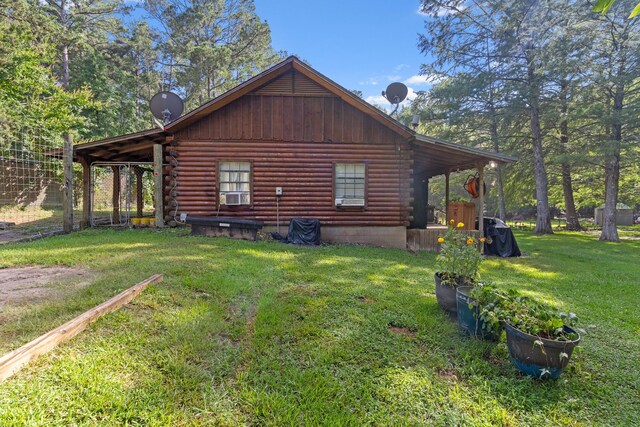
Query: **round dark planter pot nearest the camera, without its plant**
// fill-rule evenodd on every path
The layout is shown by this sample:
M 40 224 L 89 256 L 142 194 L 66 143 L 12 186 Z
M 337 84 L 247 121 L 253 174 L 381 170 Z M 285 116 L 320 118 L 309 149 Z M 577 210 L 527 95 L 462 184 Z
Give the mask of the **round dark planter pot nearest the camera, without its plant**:
M 508 323 L 505 329 L 511 363 L 521 372 L 540 379 L 559 377 L 569 364 L 573 349 L 580 342 L 579 335 L 575 341 L 554 341 L 529 335 Z M 576 333 L 567 326 L 564 330 Z

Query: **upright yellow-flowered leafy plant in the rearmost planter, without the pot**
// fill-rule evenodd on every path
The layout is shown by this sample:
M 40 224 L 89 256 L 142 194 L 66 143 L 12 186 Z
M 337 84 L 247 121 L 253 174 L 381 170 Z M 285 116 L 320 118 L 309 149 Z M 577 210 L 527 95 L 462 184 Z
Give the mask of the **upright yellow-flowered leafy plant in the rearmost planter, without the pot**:
M 442 283 L 448 286 L 456 284 L 475 284 L 478 281 L 482 254 L 478 251 L 479 241 L 463 230 L 464 224 L 457 225 L 451 220 L 444 236 L 438 238 L 440 253 L 436 258 L 438 272 Z

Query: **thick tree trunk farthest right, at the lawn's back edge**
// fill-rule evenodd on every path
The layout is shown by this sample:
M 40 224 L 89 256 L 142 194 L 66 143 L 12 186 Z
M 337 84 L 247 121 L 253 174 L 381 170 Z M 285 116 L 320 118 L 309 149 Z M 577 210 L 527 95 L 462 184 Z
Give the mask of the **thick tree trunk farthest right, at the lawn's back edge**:
M 622 73 L 623 67 L 620 67 Z M 624 84 L 616 85 L 613 98 L 613 120 L 611 123 L 611 147 L 607 150 L 607 160 L 604 168 L 604 212 L 602 214 L 602 233 L 600 240 L 619 242 L 618 225 L 616 223 L 616 207 L 618 204 L 618 184 L 620 180 L 620 145 L 622 143 L 622 105 L 624 99 Z

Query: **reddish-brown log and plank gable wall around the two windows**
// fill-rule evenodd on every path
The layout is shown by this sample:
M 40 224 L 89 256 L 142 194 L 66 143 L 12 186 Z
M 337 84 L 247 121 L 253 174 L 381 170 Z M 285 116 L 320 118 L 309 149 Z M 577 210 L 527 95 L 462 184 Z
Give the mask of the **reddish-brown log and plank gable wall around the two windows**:
M 255 218 L 276 224 L 295 217 L 323 225 L 407 226 L 412 160 L 408 143 L 344 103 L 318 94 L 246 95 L 176 133 L 165 178 L 167 212 Z M 221 160 L 252 162 L 252 206 L 217 204 Z M 334 206 L 334 163 L 367 165 L 366 209 Z M 177 209 L 176 209 L 177 207 Z

